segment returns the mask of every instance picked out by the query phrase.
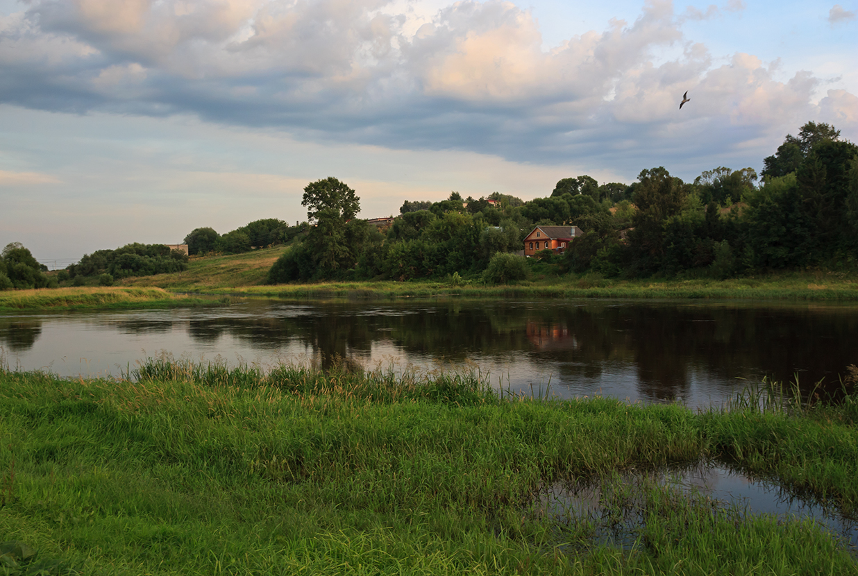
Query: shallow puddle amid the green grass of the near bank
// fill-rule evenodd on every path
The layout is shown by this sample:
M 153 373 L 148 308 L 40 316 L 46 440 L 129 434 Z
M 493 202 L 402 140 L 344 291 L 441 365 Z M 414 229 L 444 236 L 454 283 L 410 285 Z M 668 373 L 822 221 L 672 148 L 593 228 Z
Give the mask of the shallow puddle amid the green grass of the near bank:
M 818 502 L 790 494 L 776 483 L 747 477 L 715 463 L 661 472 L 625 472 L 591 483 L 555 483 L 537 494 L 533 512 L 559 522 L 589 519 L 595 525 L 595 541 L 629 548 L 644 523 L 644 489 L 664 486 L 711 503 L 735 507 L 741 515 L 771 514 L 778 519 L 813 519 L 858 552 L 858 520 Z

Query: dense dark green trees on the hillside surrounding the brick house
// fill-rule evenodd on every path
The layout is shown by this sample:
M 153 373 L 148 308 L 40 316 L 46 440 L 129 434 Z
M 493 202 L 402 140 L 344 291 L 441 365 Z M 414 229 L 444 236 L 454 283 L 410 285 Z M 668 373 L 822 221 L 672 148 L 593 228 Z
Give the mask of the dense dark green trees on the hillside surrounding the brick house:
M 314 225 L 275 263 L 269 281 L 474 275 L 495 255 L 521 250 L 534 225 L 577 225 L 585 232 L 562 259 L 540 255 L 560 271 L 726 278 L 853 267 L 858 147 L 839 135 L 828 124 L 807 123 L 764 160 L 762 183 L 751 168 L 718 167 L 686 183 L 657 167 L 641 171 L 631 185 L 565 178 L 551 195 L 529 202 L 497 193 L 462 199 L 453 192 L 444 201 L 404 202 L 386 234 L 353 219 L 357 195 L 329 177 L 305 189 Z M 508 257 L 503 262 L 503 270 L 521 268 Z

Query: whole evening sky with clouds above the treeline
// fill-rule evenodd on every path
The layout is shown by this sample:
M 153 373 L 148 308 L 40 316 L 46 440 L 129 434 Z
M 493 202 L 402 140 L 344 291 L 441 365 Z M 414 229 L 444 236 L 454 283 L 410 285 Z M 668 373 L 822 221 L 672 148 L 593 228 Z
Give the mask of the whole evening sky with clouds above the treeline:
M 858 141 L 856 54 L 858 0 L 0 0 L 0 247 L 304 221 L 329 176 L 377 218 L 761 171 L 808 121 Z

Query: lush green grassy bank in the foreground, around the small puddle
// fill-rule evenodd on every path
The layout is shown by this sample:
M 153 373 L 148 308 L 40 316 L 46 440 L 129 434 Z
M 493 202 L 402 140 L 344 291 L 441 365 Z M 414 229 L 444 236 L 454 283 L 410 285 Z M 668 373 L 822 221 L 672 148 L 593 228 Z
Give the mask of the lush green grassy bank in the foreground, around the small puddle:
M 0 371 L 0 540 L 51 573 L 858 573 L 809 522 L 617 475 L 719 459 L 854 511 L 851 397 L 697 414 L 502 398 L 472 375 L 165 359 L 127 376 Z M 535 498 L 597 477 L 601 519 Z M 630 542 L 597 537 L 629 510 Z

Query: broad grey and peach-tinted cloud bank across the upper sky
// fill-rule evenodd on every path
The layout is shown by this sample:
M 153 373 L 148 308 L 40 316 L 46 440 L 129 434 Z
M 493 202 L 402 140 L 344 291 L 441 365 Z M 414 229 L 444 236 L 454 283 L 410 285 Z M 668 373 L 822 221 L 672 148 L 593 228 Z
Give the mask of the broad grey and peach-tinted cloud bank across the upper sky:
M 541 162 L 620 149 L 650 158 L 689 123 L 750 138 L 813 114 L 855 123 L 854 95 L 831 91 L 813 105 L 811 73 L 781 81 L 775 65 L 740 53 L 716 65 L 682 32 L 683 21 L 741 9 L 730 0 L 678 15 L 649 0 L 635 21 L 545 51 L 530 12 L 501 0 L 451 3 L 422 23 L 386 0 L 32 0 L 0 20 L 0 102 L 192 113 L 299 137 Z M 850 14 L 838 5 L 830 20 Z M 686 90 L 692 102 L 680 113 Z

